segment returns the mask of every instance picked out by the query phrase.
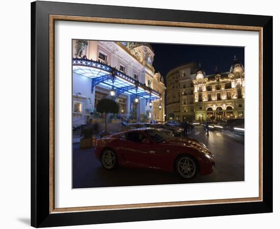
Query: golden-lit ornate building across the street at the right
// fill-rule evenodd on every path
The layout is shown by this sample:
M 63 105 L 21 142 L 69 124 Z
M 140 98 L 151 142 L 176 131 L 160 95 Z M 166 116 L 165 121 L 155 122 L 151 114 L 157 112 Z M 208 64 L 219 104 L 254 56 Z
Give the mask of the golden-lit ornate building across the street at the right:
M 206 75 L 194 63 L 167 74 L 167 116 L 176 121 L 244 118 L 244 67 L 234 56 L 229 72 Z

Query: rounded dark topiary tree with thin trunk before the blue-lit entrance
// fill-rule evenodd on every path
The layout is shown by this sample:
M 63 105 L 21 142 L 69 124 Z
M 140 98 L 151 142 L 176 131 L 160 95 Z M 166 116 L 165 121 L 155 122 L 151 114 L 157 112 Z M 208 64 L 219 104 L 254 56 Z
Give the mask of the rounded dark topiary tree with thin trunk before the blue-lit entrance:
M 101 99 L 98 101 L 96 105 L 96 110 L 99 113 L 105 113 L 105 131 L 103 134 L 108 134 L 107 132 L 107 115 L 108 113 L 118 113 L 119 112 L 119 105 L 113 99 Z

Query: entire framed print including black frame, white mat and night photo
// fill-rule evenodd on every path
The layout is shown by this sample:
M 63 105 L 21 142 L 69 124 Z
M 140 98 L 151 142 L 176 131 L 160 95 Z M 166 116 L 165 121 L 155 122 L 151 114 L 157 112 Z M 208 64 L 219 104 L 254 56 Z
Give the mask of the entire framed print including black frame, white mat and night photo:
M 35 227 L 272 212 L 272 17 L 34 2 Z

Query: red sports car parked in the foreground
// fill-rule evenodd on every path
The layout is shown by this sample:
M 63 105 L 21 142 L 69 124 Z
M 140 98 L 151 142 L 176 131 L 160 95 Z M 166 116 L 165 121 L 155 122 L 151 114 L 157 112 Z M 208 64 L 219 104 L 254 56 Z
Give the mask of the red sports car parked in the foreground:
M 192 179 L 211 174 L 215 162 L 206 146 L 191 138 L 166 139 L 156 129 L 136 129 L 96 140 L 95 155 L 106 169 L 118 165 L 176 171 Z

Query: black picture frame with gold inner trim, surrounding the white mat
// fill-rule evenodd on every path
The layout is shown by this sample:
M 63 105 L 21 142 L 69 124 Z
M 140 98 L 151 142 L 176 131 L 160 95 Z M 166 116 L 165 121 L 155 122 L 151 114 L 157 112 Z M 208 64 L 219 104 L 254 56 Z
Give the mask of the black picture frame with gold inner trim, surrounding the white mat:
M 68 10 L 65 10 L 66 6 Z M 55 13 L 53 12 L 54 8 L 56 9 Z M 91 10 L 90 12 L 88 11 L 89 9 Z M 102 9 L 102 12 L 100 9 Z M 109 16 L 108 12 L 111 12 L 112 10 L 114 10 L 115 14 Z M 123 12 L 125 11 L 129 11 L 129 15 L 124 15 Z M 153 16 L 147 16 L 146 18 L 141 16 L 147 15 L 148 12 L 153 12 L 153 14 L 149 14 Z M 32 69 L 32 77 L 36 82 L 32 85 L 32 104 L 37 105 L 39 102 L 44 104 L 42 110 L 38 110 L 38 105 L 36 108 L 33 108 L 32 194 L 34 196 L 36 195 L 36 197 L 33 197 L 32 199 L 33 226 L 41 227 L 83 223 L 137 221 L 272 211 L 272 180 L 270 179 L 270 176 L 272 175 L 272 151 L 269 152 L 272 149 L 272 138 L 268 139 L 267 137 L 268 135 L 272 135 L 272 131 L 266 127 L 271 126 L 272 122 L 272 119 L 269 119 L 271 115 L 268 113 L 268 111 L 272 109 L 272 99 L 270 101 L 265 100 L 267 97 L 272 98 L 271 92 L 267 90 L 268 85 L 272 83 L 272 77 L 264 78 L 265 75 L 272 74 L 272 51 L 270 52 L 270 50 L 272 50 L 272 17 L 235 15 L 236 18 L 244 18 L 243 24 L 237 24 L 236 21 L 232 19 L 233 17 L 229 17 L 230 14 L 209 14 L 200 12 L 200 19 L 197 17 L 195 17 L 196 19 L 192 19 L 193 15 L 198 15 L 198 12 L 48 2 L 33 3 L 32 14 L 32 37 L 34 42 L 32 49 L 32 62 L 34 66 Z M 91 16 L 89 16 L 89 14 Z M 256 18 L 258 18 L 258 20 L 256 20 Z M 54 205 L 55 21 L 117 23 L 258 32 L 259 196 L 249 198 L 210 199 L 204 201 L 56 208 Z M 48 39 L 44 37 L 47 34 Z M 43 47 L 39 48 L 38 42 L 41 44 L 44 43 L 45 45 L 42 45 Z M 47 53 L 42 52 L 47 49 Z M 38 90 L 41 91 L 39 92 Z M 41 98 L 42 95 L 47 96 L 47 98 Z M 264 109 L 264 107 L 266 109 Z M 46 110 L 48 110 L 48 117 L 39 118 L 39 113 Z M 266 112 L 264 112 L 264 110 L 266 110 Z M 47 139 L 43 139 L 46 135 L 43 136 L 38 133 L 39 128 L 42 128 L 45 133 L 48 133 L 48 142 L 46 141 Z M 40 150 L 39 152 L 39 147 L 40 149 L 44 147 L 44 150 Z M 48 173 L 43 169 L 46 169 Z M 38 179 L 41 179 L 41 181 L 39 182 Z M 189 213 L 189 211 L 195 209 L 200 209 L 200 213 L 198 213 L 198 211 L 194 211 L 196 213 Z M 173 211 L 172 214 L 170 213 L 171 210 Z M 126 217 L 120 217 L 122 214 L 125 214 Z M 71 220 L 71 217 L 74 216 L 77 220 L 75 222 Z M 85 216 L 87 216 L 87 220 L 85 220 Z

